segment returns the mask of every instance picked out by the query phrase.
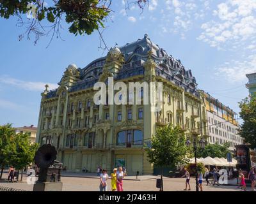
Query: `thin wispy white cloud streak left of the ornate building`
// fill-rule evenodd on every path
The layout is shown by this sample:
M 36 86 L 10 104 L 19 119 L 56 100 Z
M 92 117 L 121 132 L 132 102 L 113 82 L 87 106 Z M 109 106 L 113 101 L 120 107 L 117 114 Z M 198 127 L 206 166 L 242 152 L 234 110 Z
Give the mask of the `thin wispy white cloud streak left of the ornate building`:
M 44 91 L 45 84 L 48 84 L 50 89 L 56 89 L 58 87 L 57 84 L 45 83 L 45 82 L 26 82 L 22 80 L 18 80 L 16 78 L 11 78 L 8 76 L 0 76 L 0 83 L 12 85 L 19 89 L 24 89 L 26 91 Z

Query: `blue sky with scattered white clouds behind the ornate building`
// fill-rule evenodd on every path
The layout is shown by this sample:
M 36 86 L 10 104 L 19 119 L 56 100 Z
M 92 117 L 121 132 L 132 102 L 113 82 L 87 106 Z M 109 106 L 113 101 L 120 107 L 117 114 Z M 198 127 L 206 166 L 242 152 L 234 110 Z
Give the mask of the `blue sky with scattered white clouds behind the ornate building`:
M 136 5 L 124 8 L 124 1 L 113 1 L 115 13 L 104 31 L 108 47 L 147 33 L 193 71 L 199 89 L 239 112 L 237 102 L 248 95 L 245 74 L 256 71 L 255 0 L 150 0 L 142 14 Z M 56 87 L 68 64 L 83 68 L 102 57 L 99 34 L 74 36 L 63 24 L 64 41 L 54 38 L 46 48 L 49 36 L 37 45 L 19 41 L 25 29 L 16 22 L 0 18 L 0 124 L 37 125 L 44 84 Z

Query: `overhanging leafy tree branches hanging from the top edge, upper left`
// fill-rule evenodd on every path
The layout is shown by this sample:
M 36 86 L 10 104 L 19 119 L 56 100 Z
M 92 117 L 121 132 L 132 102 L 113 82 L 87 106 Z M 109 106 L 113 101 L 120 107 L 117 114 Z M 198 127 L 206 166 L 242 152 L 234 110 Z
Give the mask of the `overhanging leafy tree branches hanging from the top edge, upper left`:
M 118 0 L 120 1 L 120 0 Z M 141 9 L 148 4 L 149 0 L 125 0 L 125 8 L 129 9 L 129 4 L 138 4 Z M 60 36 L 61 20 L 64 18 L 70 24 L 69 32 L 77 34 L 92 34 L 99 27 L 104 28 L 106 17 L 111 13 L 111 0 L 0 0 L 0 17 L 18 17 L 19 25 L 28 25 L 26 31 L 28 39 L 30 34 L 35 34 L 35 43 L 40 36 L 49 34 L 51 31 Z M 29 5 L 29 6 L 28 6 Z M 24 22 L 26 13 L 32 11 L 33 18 L 29 22 Z M 42 25 L 42 23 L 47 25 Z M 46 30 L 48 29 L 48 30 Z M 52 35 L 52 37 L 53 37 Z M 24 34 L 20 35 L 22 39 Z

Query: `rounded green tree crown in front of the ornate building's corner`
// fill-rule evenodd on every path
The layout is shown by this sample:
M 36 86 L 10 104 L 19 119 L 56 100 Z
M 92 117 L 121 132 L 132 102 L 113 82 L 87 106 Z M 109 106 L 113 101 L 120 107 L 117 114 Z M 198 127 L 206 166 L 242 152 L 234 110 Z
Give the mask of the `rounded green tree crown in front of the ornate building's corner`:
M 148 161 L 161 168 L 187 163 L 185 156 L 188 148 L 185 142 L 184 132 L 179 127 L 168 125 L 157 129 L 151 147 L 145 148 Z

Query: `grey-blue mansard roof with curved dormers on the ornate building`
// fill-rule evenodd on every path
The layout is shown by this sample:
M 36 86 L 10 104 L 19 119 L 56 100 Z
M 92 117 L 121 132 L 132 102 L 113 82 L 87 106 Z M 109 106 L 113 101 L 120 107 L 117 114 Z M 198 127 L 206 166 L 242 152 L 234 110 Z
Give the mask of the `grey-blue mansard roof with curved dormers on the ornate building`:
M 147 34 L 144 38 L 127 43 L 119 49 L 124 55 L 125 62 L 120 72 L 115 75 L 116 80 L 143 74 L 143 63 L 148 59 L 148 52 L 152 51 L 152 58 L 157 64 L 156 75 L 198 95 L 196 79 L 191 70 L 186 70 L 179 59 L 174 59 L 172 55 L 168 55 L 163 48 L 153 43 Z M 106 64 L 106 57 L 100 57 L 90 62 L 86 67 L 78 68 L 80 80 L 70 88 L 70 91 L 93 87 L 93 84 L 99 80 L 104 64 Z M 54 96 L 54 93 L 49 93 L 49 95 Z

